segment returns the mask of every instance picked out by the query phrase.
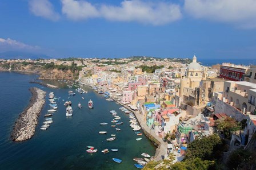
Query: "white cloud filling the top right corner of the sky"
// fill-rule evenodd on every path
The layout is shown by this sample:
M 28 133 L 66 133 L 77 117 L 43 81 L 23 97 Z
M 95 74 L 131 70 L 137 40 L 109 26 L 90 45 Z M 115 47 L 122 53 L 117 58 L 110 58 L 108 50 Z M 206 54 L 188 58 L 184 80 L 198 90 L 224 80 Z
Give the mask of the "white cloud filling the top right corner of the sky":
M 184 9 L 194 18 L 256 28 L 255 0 L 185 0 Z

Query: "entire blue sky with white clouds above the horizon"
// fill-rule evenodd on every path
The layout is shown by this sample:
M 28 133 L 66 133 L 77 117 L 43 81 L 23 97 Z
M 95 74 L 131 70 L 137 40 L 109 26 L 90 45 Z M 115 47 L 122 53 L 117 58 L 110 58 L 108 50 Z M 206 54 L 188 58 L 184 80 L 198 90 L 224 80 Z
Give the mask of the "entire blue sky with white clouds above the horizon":
M 256 58 L 255 0 L 0 0 L 0 53 Z

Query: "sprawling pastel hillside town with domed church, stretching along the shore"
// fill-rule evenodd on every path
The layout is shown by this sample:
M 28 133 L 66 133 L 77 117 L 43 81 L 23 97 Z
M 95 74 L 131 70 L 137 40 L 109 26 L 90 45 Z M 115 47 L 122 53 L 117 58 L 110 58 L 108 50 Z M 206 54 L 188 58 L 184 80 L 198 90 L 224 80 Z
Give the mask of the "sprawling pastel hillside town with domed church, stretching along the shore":
M 195 150 L 191 143 L 215 140 L 214 134 L 221 136 L 222 143 L 213 144 L 207 156 L 215 156 L 216 162 L 225 154 L 237 154 L 241 148 L 252 154 L 256 129 L 255 65 L 235 65 L 230 61 L 205 67 L 196 56 L 190 59 L 139 56 L 0 59 L 0 70 L 39 73 L 42 79 L 73 79 L 98 93 L 109 92 L 114 101 L 139 114 L 141 126 L 157 138 L 159 152 L 167 160 L 173 155 L 173 163 L 184 157 L 191 159 Z M 217 146 L 222 147 L 217 151 Z M 208 149 L 203 147 L 202 144 L 202 150 Z M 214 155 L 215 152 L 222 156 Z M 232 157 L 225 159 L 229 167 L 235 161 Z M 167 165 L 161 162 L 155 166 Z

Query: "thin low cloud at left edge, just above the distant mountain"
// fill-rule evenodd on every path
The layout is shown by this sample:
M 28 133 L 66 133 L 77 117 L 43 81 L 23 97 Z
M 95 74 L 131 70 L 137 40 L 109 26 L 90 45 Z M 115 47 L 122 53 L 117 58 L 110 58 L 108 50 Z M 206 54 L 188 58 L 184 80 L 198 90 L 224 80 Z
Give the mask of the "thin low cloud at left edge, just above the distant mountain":
M 0 38 L 0 52 L 13 51 L 13 50 L 37 51 L 39 49 L 41 49 L 39 46 L 27 45 L 25 43 L 12 40 L 10 38 L 7 38 L 7 39 Z

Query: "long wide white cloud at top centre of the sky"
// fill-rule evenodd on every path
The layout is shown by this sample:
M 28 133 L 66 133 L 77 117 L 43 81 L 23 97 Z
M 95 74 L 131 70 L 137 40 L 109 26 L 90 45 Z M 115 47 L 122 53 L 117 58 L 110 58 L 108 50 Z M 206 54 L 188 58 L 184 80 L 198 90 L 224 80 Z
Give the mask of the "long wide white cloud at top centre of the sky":
M 62 13 L 81 20 L 105 18 L 123 22 L 135 21 L 153 25 L 174 22 L 182 17 L 179 5 L 169 2 L 122 1 L 121 6 L 92 5 L 87 1 L 62 0 Z

